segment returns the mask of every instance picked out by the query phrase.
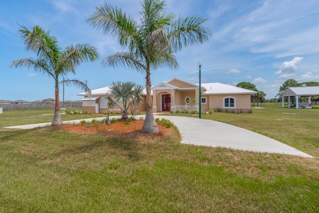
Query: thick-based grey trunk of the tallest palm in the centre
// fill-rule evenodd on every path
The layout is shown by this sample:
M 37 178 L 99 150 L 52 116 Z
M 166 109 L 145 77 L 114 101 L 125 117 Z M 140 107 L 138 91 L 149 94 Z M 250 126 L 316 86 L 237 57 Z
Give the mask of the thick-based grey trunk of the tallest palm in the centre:
M 146 71 L 146 116 L 145 116 L 145 121 L 142 128 L 142 132 L 146 134 L 159 133 L 159 128 L 155 122 L 155 118 L 153 114 L 150 65 L 148 65 L 147 71 Z

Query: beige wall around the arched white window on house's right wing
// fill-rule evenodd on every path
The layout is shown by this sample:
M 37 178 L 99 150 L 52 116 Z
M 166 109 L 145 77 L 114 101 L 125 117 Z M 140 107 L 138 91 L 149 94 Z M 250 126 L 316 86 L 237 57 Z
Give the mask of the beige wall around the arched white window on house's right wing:
M 242 112 L 249 112 L 251 109 L 250 106 L 250 94 L 223 94 L 223 95 L 209 95 L 209 109 L 222 109 L 225 111 L 237 111 L 242 110 Z M 225 97 L 234 97 L 236 99 L 235 108 L 225 108 L 224 107 L 224 98 Z M 202 105 L 203 106 L 203 105 Z

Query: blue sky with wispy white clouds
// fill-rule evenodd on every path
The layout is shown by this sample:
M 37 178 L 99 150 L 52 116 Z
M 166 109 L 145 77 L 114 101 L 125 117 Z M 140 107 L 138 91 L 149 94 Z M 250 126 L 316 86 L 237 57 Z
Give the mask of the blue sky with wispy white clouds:
M 40 25 L 50 29 L 62 47 L 89 42 L 101 59 L 84 63 L 69 78 L 87 80 L 91 89 L 112 81 L 135 81 L 145 85 L 141 73 L 122 68 L 102 68 L 102 58 L 121 51 L 117 39 L 93 29 L 86 18 L 104 0 L 1 0 L 0 3 L 0 99 L 41 100 L 54 97 L 53 80 L 33 70 L 9 68 L 11 61 L 34 56 L 25 51 L 17 34 L 18 25 Z M 136 19 L 139 0 L 110 0 Z M 274 97 L 289 78 L 319 81 L 318 0 L 167 0 L 176 16 L 201 15 L 213 36 L 204 44 L 176 53 L 177 70 L 162 68 L 152 73 L 152 84 L 176 76 L 198 82 L 198 61 L 202 81 L 236 85 L 253 82 Z M 78 88 L 66 87 L 65 100 L 78 100 Z M 61 90 L 62 93 L 62 90 Z M 62 99 L 62 98 L 61 98 Z

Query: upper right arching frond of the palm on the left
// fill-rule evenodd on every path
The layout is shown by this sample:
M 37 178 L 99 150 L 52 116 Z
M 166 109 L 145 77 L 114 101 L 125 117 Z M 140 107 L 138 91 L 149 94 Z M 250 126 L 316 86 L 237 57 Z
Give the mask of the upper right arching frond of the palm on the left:
M 61 52 L 56 69 L 62 74 L 75 73 L 75 69 L 82 62 L 96 61 L 98 58 L 99 53 L 95 46 L 89 43 L 71 44 Z

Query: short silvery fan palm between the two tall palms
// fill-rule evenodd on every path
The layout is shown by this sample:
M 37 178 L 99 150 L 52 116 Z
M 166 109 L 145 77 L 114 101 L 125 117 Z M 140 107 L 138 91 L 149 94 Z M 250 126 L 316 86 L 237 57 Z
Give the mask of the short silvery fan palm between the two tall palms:
M 120 109 L 122 119 L 127 119 L 129 112 L 133 115 L 139 112 L 138 107 L 143 102 L 143 91 L 143 86 L 132 81 L 118 81 L 112 82 L 110 91 L 104 97 L 107 99 L 109 109 Z

